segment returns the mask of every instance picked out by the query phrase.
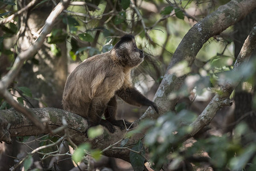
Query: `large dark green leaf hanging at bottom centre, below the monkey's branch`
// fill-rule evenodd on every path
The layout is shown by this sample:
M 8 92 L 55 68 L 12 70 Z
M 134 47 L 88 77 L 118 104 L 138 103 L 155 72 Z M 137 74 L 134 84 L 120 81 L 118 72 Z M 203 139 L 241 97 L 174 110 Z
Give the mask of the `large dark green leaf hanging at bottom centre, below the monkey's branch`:
M 139 141 L 135 146 L 132 147 L 132 150 L 135 150 L 136 152 L 130 152 L 130 161 L 132 164 L 132 168 L 135 171 L 141 171 L 144 170 L 144 161 L 145 158 L 143 157 L 145 155 L 145 149 L 143 146 L 143 143 Z

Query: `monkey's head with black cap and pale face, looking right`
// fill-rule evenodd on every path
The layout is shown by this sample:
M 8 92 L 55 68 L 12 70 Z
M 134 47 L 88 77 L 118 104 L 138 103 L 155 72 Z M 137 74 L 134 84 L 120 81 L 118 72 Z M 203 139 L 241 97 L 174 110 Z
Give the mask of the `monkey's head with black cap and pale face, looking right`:
M 114 60 L 123 66 L 136 67 L 144 60 L 143 51 L 137 48 L 133 35 L 124 35 L 111 50 Z

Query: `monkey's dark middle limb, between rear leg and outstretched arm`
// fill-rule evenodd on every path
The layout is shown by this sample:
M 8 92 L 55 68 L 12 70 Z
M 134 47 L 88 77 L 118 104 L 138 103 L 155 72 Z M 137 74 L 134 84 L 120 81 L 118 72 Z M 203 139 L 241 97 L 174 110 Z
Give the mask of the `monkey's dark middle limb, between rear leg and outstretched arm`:
M 107 104 L 107 108 L 105 109 L 105 119 L 107 121 L 109 121 L 111 124 L 116 125 L 117 127 L 119 127 L 121 130 L 126 128 L 132 128 L 131 125 L 132 123 L 125 121 L 125 120 L 116 120 L 116 109 L 117 109 L 117 105 L 116 105 L 116 96 L 113 96 L 108 104 Z

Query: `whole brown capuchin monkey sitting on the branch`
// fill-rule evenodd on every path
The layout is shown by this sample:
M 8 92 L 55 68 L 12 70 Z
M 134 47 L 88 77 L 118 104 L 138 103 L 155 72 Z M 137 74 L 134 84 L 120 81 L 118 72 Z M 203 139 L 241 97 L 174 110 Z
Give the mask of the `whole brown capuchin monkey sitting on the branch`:
M 115 132 L 113 125 L 120 129 L 131 125 L 115 119 L 117 96 L 137 107 L 151 106 L 158 113 L 156 104 L 132 85 L 131 70 L 143 60 L 134 36 L 124 35 L 111 51 L 84 60 L 68 76 L 63 108 L 86 118 L 90 127 L 101 124 L 111 133 Z M 105 120 L 101 119 L 103 114 Z

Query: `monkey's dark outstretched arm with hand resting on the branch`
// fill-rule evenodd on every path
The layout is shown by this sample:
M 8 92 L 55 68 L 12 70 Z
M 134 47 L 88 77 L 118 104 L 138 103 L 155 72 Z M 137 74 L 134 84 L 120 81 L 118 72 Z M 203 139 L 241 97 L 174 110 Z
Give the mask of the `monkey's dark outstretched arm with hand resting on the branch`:
M 141 107 L 141 105 L 151 106 L 157 113 L 159 113 L 156 104 L 153 101 L 148 100 L 147 97 L 141 95 L 141 93 L 134 87 L 128 87 L 126 89 L 121 88 L 116 91 L 116 95 L 127 103 L 136 105 L 138 107 Z

